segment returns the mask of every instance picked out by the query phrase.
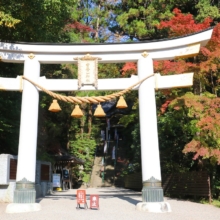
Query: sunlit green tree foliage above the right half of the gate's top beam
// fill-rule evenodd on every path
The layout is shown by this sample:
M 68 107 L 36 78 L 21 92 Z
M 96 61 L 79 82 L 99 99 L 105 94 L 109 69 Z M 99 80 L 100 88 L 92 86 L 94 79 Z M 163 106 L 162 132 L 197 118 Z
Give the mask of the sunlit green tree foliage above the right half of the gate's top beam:
M 115 23 L 112 22 L 110 30 L 127 36 L 130 40 L 160 39 L 167 37 L 156 26 L 162 20 L 169 20 L 173 15 L 174 8 L 183 13 L 192 14 L 197 21 L 202 22 L 210 17 L 219 21 L 218 1 L 176 1 L 176 0 L 129 0 L 120 1 L 114 6 Z

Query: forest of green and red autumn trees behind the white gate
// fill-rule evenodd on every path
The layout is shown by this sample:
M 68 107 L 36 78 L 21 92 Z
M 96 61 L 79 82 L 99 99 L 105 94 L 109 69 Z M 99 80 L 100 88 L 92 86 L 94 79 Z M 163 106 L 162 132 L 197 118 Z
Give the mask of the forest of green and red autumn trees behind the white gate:
M 213 27 L 213 35 L 196 57 L 155 61 L 162 75 L 194 72 L 191 88 L 156 91 L 162 173 L 207 170 L 214 196 L 220 189 L 220 1 L 218 0 L 2 0 L 1 42 L 113 43 L 175 38 Z M 136 63 L 99 64 L 99 78 L 137 74 Z M 0 77 L 23 75 L 23 65 L 0 62 Z M 41 75 L 77 78 L 73 64 L 41 65 Z M 97 95 L 69 92 L 65 95 Z M 99 95 L 105 95 L 101 92 Z M 140 169 L 137 91 L 125 97 L 127 114 L 107 115 L 111 125 L 123 125 L 125 157 Z M 18 153 L 21 93 L 0 91 L 0 153 Z M 88 179 L 100 130 L 94 106 L 82 105 L 84 117 L 70 117 L 73 106 L 48 111 L 51 97 L 40 94 L 37 157 L 52 160 L 60 149 L 86 161 Z M 146 100 L 147 104 L 147 100 Z

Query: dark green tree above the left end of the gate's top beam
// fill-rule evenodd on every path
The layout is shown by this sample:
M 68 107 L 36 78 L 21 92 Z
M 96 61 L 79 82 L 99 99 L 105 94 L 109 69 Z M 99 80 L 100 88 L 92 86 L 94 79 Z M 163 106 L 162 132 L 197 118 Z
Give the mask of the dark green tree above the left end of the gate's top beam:
M 60 42 L 63 27 L 75 4 L 74 0 L 1 1 L 4 13 L 20 20 L 15 29 L 0 27 L 1 40 Z

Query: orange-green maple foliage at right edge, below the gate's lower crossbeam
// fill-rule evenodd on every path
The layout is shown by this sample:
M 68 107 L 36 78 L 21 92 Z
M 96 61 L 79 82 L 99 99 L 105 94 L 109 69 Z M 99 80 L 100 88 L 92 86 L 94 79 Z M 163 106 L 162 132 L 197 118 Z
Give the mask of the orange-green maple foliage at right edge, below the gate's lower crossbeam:
M 194 160 L 215 158 L 220 164 L 220 98 L 191 94 L 177 98 L 171 105 L 174 109 L 187 108 L 187 116 L 191 120 L 189 130 L 193 139 L 184 146 L 183 153 L 195 153 Z

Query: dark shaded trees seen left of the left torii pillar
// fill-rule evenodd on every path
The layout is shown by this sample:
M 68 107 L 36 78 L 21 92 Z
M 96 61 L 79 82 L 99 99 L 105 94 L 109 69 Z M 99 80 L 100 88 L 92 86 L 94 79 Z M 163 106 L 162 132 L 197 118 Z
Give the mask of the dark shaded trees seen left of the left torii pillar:
M 12 77 L 14 72 L 22 75 L 22 65 L 0 62 L 0 76 Z M 0 86 L 0 153 L 17 154 L 21 95 L 21 92 L 7 92 Z

